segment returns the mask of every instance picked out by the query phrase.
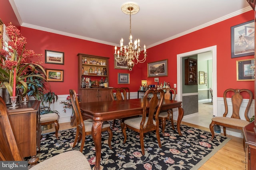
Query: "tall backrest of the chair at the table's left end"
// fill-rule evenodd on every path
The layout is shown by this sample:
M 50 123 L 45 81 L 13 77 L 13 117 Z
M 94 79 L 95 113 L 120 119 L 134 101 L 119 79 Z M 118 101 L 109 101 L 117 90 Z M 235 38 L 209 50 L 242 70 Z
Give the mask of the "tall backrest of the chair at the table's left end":
M 69 94 L 70 94 L 70 100 L 71 100 L 71 103 L 72 103 L 72 106 L 73 106 L 73 109 L 75 112 L 74 116 L 76 117 L 76 127 L 80 126 L 80 128 L 84 129 L 84 131 L 85 131 L 84 120 L 83 120 L 82 113 L 80 110 L 76 91 L 73 89 L 70 89 Z

